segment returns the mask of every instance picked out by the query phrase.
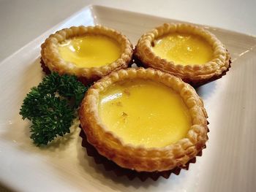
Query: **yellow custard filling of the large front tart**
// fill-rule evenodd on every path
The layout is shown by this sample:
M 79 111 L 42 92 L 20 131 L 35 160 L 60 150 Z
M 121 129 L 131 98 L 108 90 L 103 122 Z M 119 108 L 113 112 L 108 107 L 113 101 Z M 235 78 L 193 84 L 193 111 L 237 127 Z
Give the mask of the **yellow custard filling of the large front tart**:
M 99 118 L 124 143 L 165 147 L 186 137 L 191 117 L 184 101 L 157 82 L 132 80 L 99 95 Z

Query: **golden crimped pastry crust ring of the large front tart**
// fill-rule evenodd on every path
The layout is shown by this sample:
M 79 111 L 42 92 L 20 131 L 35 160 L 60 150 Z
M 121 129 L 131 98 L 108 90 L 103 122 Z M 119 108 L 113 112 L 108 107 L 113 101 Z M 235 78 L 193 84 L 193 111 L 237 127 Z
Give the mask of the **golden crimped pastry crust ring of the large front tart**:
M 115 82 L 134 78 L 163 83 L 180 94 L 192 117 L 192 126 L 186 138 L 166 147 L 146 148 L 124 144 L 121 138 L 105 128 L 98 115 L 99 93 Z M 180 78 L 156 69 L 121 69 L 102 78 L 87 91 L 80 106 L 79 116 L 89 143 L 94 145 L 101 155 L 121 167 L 138 172 L 160 172 L 184 165 L 203 149 L 208 140 L 208 116 L 195 89 Z

